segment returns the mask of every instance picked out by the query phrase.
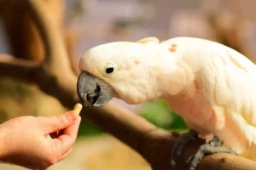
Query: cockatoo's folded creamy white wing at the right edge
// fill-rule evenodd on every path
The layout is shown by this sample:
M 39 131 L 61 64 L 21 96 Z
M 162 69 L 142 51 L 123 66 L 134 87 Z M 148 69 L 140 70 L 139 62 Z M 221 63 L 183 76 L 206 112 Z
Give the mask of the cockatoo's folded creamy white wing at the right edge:
M 224 144 L 243 150 L 256 144 L 256 66 L 231 48 L 211 46 L 198 79 L 215 113 L 212 131 Z

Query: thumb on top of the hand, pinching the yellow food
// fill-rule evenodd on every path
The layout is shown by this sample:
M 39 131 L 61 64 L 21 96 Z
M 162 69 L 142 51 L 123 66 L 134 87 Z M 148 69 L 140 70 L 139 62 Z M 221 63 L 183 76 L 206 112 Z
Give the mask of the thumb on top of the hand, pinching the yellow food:
M 44 117 L 43 122 L 47 133 L 54 133 L 71 126 L 78 116 L 75 111 L 68 111 L 59 116 Z

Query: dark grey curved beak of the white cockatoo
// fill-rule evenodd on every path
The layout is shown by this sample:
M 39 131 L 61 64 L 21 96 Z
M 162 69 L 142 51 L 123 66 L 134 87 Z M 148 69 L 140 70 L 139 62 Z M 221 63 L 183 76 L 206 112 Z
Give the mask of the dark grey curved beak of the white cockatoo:
M 86 71 L 81 71 L 79 75 L 77 92 L 84 105 L 91 107 L 107 105 L 114 95 L 113 88 L 107 82 Z

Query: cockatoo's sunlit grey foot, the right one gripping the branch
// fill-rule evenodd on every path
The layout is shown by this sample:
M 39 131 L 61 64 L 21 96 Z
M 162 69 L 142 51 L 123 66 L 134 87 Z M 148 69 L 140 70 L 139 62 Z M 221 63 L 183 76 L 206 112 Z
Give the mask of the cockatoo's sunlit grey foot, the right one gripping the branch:
M 222 142 L 218 139 L 217 136 L 214 136 L 212 140 L 210 140 L 207 144 L 202 144 L 195 153 L 194 156 L 190 156 L 187 161 L 187 170 L 195 170 L 198 163 L 204 156 L 212 155 L 215 153 L 229 153 L 229 154 L 236 154 L 235 150 L 231 148 L 222 146 Z M 237 154 L 236 154 L 237 155 Z

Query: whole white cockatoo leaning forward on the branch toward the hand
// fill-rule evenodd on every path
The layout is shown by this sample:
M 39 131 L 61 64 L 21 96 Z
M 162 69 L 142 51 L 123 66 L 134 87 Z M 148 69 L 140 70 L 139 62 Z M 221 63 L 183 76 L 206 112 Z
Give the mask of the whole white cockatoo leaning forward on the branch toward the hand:
M 79 68 L 84 105 L 102 107 L 113 97 L 128 104 L 168 101 L 192 129 L 177 140 L 172 166 L 195 133 L 210 140 L 198 153 L 241 154 L 255 147 L 256 66 L 232 48 L 195 37 L 146 37 L 90 48 Z M 200 161 L 198 153 L 190 169 Z

